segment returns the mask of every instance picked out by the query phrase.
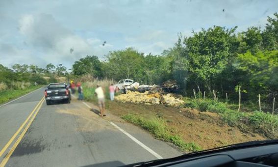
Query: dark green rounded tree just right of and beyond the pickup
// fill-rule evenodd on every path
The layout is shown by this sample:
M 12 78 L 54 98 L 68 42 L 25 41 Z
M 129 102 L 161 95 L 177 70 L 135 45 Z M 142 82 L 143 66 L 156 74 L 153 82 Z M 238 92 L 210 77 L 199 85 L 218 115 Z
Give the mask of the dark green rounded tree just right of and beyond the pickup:
M 97 56 L 86 56 L 80 58 L 73 65 L 74 75 L 90 74 L 95 77 L 102 77 L 101 61 Z

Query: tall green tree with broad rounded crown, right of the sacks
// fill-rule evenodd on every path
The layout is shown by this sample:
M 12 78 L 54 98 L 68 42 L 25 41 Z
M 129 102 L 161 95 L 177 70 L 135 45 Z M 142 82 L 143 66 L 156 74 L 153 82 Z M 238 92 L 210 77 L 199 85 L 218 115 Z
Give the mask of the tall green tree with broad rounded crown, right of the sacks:
M 182 56 L 191 80 L 200 81 L 211 91 L 216 76 L 226 68 L 228 59 L 236 55 L 235 46 L 239 43 L 234 34 L 235 29 L 214 26 L 184 38 L 185 50 Z

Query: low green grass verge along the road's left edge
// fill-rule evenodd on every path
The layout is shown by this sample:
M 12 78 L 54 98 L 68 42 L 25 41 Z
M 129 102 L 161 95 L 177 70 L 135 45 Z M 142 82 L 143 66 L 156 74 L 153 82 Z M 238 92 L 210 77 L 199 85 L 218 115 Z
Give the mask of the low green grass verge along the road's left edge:
M 12 99 L 15 99 L 21 95 L 29 93 L 35 89 L 39 88 L 39 86 L 29 86 L 25 89 L 6 89 L 0 91 L 0 104 L 6 103 Z

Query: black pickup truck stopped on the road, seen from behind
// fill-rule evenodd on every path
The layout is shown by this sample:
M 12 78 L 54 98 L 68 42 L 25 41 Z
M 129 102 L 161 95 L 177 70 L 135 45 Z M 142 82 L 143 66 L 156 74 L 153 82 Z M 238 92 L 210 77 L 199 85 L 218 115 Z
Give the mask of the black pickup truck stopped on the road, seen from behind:
M 71 103 L 71 92 L 66 83 L 50 83 L 45 90 L 45 97 L 47 105 L 51 101 Z

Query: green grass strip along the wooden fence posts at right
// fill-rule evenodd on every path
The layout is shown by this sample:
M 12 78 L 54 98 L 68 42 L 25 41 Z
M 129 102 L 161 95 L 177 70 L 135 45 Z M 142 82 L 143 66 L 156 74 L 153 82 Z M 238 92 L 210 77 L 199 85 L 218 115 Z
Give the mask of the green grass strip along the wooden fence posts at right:
M 244 128 L 244 126 L 249 126 L 256 133 L 264 134 L 267 138 L 278 138 L 278 115 L 272 115 L 269 112 L 263 111 L 243 112 L 231 110 L 226 103 L 215 102 L 213 100 L 186 99 L 186 101 L 184 107 L 194 108 L 202 112 L 219 113 L 222 120 L 229 126 L 237 126 L 240 129 Z

